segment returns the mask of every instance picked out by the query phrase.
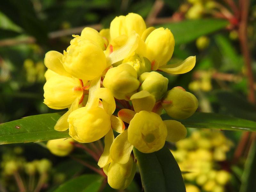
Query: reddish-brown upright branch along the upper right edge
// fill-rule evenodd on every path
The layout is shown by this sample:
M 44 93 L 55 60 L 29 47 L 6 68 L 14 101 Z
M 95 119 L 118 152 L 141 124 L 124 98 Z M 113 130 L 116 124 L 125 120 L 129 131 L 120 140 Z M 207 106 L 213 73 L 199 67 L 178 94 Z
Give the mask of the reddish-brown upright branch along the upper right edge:
M 254 92 L 254 78 L 252 73 L 251 65 L 251 54 L 248 46 L 247 38 L 247 20 L 248 20 L 248 11 L 249 11 L 249 0 L 243 0 L 241 2 L 241 22 L 239 24 L 238 35 L 242 54 L 244 57 L 245 66 L 247 68 L 247 78 L 249 82 L 249 94 L 248 100 L 252 103 L 255 103 L 255 92 Z

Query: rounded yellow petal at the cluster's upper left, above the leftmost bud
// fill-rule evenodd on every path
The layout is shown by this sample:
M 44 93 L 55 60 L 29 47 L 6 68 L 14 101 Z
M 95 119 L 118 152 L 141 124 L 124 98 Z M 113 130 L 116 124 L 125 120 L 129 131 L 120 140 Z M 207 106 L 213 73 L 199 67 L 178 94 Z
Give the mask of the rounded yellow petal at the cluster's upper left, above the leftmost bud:
M 44 57 L 44 65 L 62 76 L 71 77 L 71 75 L 64 69 L 62 65 L 63 54 L 57 51 L 48 51 Z

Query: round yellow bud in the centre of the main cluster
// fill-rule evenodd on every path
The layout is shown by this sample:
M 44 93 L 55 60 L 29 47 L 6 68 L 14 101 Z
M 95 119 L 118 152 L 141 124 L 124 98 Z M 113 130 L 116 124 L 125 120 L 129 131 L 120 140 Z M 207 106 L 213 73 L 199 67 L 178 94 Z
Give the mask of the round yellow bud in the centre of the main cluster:
M 136 70 L 131 65 L 123 63 L 108 70 L 103 85 L 116 99 L 129 100 L 140 86 L 140 81 L 137 79 Z

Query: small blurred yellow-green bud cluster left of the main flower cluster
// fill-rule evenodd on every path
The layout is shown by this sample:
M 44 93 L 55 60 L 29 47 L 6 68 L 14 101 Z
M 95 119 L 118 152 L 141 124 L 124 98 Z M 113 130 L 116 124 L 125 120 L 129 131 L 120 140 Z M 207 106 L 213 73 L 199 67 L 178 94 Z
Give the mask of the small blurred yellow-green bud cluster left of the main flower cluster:
M 24 60 L 26 79 L 29 83 L 44 82 L 45 66 L 42 61 L 34 63 L 31 59 Z

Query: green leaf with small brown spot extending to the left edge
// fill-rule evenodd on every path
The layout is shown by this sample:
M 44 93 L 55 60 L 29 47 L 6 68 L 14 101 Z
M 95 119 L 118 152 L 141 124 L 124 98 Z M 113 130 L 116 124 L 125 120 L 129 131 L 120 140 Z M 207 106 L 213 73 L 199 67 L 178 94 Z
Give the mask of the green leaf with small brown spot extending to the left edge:
M 63 113 L 34 115 L 0 124 L 0 144 L 68 138 L 68 131 L 54 130 L 54 125 L 62 115 Z

